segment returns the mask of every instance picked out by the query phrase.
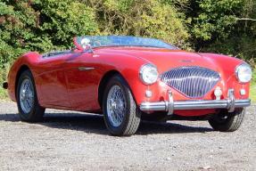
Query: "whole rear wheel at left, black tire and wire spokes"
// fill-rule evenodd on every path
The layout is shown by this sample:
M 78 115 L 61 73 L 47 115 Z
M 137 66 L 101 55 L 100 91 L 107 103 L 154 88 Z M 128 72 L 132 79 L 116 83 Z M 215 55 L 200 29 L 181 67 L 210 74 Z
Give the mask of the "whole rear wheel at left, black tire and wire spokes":
M 38 104 L 36 86 L 29 70 L 21 73 L 16 96 L 19 115 L 22 121 L 37 122 L 43 119 L 45 108 Z

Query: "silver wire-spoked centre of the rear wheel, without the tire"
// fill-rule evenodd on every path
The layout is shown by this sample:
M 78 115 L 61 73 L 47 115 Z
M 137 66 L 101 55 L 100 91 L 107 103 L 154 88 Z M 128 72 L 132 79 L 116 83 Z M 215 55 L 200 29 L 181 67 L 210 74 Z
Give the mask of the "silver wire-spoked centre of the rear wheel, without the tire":
M 21 83 L 20 102 L 21 110 L 24 113 L 29 113 L 34 105 L 34 87 L 29 78 L 26 78 Z

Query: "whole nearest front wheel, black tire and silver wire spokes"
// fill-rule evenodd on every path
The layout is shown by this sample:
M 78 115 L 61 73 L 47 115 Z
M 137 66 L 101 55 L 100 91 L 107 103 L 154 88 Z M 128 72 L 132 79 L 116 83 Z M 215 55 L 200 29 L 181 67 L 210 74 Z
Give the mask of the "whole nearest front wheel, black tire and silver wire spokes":
M 135 134 L 141 113 L 126 81 L 116 75 L 111 78 L 103 94 L 105 124 L 112 135 Z

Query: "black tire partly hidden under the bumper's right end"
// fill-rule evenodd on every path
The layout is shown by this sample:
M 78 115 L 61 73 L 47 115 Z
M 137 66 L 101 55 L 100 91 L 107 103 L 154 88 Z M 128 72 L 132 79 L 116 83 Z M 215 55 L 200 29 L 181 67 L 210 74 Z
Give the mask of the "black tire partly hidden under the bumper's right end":
M 211 127 L 215 131 L 233 132 L 237 130 L 243 123 L 245 111 L 237 109 L 232 113 L 221 111 L 209 120 Z

